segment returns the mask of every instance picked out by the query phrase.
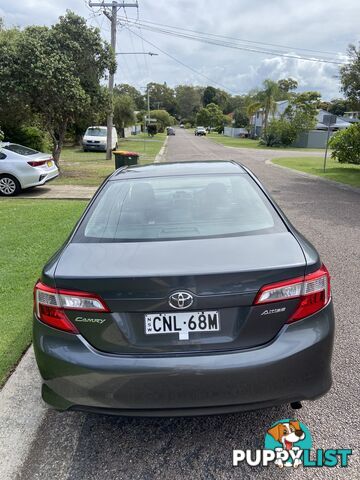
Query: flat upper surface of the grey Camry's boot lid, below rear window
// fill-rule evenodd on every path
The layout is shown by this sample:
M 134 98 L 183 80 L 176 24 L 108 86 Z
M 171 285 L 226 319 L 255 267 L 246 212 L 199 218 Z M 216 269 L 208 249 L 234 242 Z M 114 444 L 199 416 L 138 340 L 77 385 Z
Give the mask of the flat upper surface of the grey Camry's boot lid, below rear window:
M 221 239 L 138 243 L 71 243 L 55 277 L 109 278 L 206 275 L 215 272 L 281 269 L 304 265 L 298 242 L 288 232 Z

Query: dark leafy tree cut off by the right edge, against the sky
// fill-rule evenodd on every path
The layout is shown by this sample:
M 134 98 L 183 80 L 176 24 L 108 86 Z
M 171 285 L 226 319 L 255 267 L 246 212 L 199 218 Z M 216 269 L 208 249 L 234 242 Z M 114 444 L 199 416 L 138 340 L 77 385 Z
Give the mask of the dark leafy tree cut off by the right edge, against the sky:
M 360 105 L 360 48 L 349 45 L 349 63 L 340 68 L 341 90 L 354 108 Z

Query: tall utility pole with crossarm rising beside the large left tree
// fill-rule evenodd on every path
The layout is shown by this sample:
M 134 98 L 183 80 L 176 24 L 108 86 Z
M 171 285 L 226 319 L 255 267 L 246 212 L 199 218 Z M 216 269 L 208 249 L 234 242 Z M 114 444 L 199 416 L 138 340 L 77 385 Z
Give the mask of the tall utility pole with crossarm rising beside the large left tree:
M 116 54 L 116 26 L 117 26 L 117 13 L 120 8 L 136 7 L 138 3 L 125 3 L 114 0 L 112 2 L 89 2 L 90 7 L 102 7 L 104 15 L 111 22 L 111 48 Z M 107 115 L 107 139 L 106 139 L 106 160 L 111 160 L 112 155 L 112 129 L 114 124 L 114 74 L 109 73 L 109 96 L 110 96 L 110 109 Z

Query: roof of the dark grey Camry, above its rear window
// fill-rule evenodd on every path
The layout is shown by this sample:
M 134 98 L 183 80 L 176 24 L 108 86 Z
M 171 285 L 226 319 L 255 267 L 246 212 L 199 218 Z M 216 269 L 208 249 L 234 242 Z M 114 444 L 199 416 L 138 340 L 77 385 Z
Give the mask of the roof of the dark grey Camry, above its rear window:
M 109 180 L 167 177 L 176 175 L 244 174 L 247 171 L 233 160 L 184 161 L 133 165 L 116 170 Z

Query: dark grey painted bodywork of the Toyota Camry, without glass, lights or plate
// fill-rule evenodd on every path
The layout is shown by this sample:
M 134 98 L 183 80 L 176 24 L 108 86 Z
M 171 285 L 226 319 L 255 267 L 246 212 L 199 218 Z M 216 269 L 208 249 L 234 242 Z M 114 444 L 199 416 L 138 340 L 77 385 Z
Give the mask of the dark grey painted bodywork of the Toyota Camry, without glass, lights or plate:
M 233 162 L 134 167 L 115 172 L 109 181 L 155 171 L 213 175 L 225 169 L 237 175 L 239 168 Z M 302 277 L 319 262 L 311 244 L 273 207 L 283 220 L 281 233 L 100 244 L 79 243 L 75 233 L 44 268 L 43 280 L 99 294 L 110 313 L 86 312 L 91 320 L 99 317 L 94 323 L 78 322 L 78 312 L 68 311 L 78 336 L 34 318 L 43 398 L 60 409 L 86 406 L 141 414 L 155 409 L 167 415 L 174 409 L 249 409 L 326 393 L 331 385 L 331 302 L 292 325 L 286 322 L 298 300 L 272 303 L 269 316 L 263 316 L 269 306 L 253 305 L 262 286 Z M 186 341 L 173 333 L 145 335 L 144 312 L 175 315 L 168 298 L 183 289 L 194 296 L 189 314 L 217 310 L 220 331 L 191 332 Z

